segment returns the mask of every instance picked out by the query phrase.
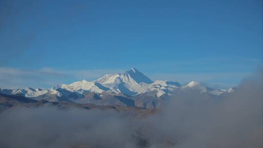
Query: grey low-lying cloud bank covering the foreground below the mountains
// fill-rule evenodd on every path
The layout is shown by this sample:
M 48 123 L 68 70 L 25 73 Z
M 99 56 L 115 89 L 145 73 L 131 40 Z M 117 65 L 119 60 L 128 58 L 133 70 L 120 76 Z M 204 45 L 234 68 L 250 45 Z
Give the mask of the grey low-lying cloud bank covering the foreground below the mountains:
M 262 148 L 262 69 L 220 99 L 184 94 L 155 115 L 17 108 L 0 114 L 1 148 Z

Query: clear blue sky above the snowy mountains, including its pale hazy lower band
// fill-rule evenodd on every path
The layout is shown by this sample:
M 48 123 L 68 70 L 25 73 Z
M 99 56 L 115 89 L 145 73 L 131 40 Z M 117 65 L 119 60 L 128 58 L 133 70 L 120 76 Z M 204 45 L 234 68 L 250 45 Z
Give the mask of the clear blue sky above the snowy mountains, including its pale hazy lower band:
M 225 88 L 262 67 L 262 0 L 1 0 L 0 88 L 135 67 Z

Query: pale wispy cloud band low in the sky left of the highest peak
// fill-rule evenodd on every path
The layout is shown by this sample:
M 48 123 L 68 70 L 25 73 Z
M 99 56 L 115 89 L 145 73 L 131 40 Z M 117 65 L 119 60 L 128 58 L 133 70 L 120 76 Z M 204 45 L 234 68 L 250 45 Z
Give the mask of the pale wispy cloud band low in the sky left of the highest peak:
M 0 67 L 0 88 L 50 88 L 61 83 L 71 83 L 77 80 L 94 80 L 104 74 L 122 72 L 122 70 L 56 70 L 48 67 L 37 70 Z

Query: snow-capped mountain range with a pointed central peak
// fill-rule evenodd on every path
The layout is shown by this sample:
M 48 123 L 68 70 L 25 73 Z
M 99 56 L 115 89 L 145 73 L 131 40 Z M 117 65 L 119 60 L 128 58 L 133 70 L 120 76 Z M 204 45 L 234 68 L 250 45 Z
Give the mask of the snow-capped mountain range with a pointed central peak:
M 77 81 L 72 84 L 60 84 L 50 90 L 42 89 L 0 89 L 0 93 L 20 95 L 36 100 L 71 101 L 76 103 L 93 103 L 96 105 L 138 106 L 158 108 L 176 93 L 195 91 L 207 95 L 219 96 L 235 91 L 214 90 L 204 87 L 199 82 L 191 81 L 185 86 L 178 82 L 155 80 L 132 68 L 123 74 L 106 74 L 94 81 Z

